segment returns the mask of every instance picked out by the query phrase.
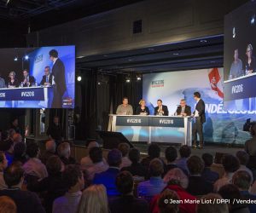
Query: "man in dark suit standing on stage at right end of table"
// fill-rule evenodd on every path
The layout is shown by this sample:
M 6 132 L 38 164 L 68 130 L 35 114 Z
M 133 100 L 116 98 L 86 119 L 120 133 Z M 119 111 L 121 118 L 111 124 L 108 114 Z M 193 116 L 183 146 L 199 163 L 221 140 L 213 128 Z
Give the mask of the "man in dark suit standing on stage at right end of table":
M 201 100 L 201 94 L 199 92 L 194 93 L 194 99 L 196 101 L 195 112 L 193 116 L 195 117 L 195 123 L 193 124 L 192 134 L 193 134 L 193 148 L 197 146 L 197 134 L 199 135 L 199 146 L 202 148 L 204 144 L 203 135 L 203 124 L 206 122 L 206 112 L 205 112 L 205 102 Z

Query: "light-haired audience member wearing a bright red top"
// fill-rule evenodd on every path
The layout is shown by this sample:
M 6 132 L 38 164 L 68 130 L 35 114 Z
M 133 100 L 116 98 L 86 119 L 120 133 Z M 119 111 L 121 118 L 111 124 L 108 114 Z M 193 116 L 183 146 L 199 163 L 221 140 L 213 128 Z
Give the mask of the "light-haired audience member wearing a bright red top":
M 195 207 L 196 204 L 194 201 L 196 200 L 196 197 L 187 193 L 186 188 L 189 185 L 189 179 L 188 176 L 186 176 L 183 172 L 183 170 L 179 168 L 174 168 L 172 170 L 169 170 L 164 177 L 164 181 L 167 183 L 167 186 L 165 189 L 172 190 L 177 193 L 177 196 L 180 200 L 182 200 L 182 203 L 179 204 L 179 212 L 180 213 L 195 213 Z M 164 190 L 165 190 L 164 189 Z M 154 196 L 154 199 L 152 199 L 150 203 L 150 210 L 152 213 L 159 213 L 159 207 L 158 207 L 158 200 L 160 198 L 160 194 Z M 192 203 L 186 203 L 185 200 L 190 200 Z

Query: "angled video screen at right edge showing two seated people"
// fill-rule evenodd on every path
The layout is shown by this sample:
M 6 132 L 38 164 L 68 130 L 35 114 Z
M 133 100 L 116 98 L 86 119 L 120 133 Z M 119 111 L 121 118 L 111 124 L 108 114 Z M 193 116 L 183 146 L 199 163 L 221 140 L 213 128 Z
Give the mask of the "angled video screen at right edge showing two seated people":
M 256 109 L 256 2 L 224 19 L 224 107 Z

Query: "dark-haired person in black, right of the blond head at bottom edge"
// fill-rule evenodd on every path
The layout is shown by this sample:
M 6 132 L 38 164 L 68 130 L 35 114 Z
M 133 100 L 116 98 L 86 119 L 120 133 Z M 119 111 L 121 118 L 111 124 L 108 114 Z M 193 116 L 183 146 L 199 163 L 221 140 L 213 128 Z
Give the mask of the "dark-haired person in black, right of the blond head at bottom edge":
M 144 199 L 137 199 L 133 195 L 134 182 L 129 171 L 122 171 L 116 177 L 116 187 L 121 194 L 117 199 L 109 202 L 111 213 L 148 213 L 148 202 Z

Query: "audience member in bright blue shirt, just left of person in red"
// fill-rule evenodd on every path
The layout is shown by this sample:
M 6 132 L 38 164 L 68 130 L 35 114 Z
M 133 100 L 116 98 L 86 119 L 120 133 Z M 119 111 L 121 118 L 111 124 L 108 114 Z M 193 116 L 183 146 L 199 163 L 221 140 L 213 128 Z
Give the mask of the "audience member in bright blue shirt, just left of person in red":
M 137 186 L 137 195 L 148 200 L 166 187 L 166 183 L 161 177 L 164 173 L 164 165 L 159 158 L 154 158 L 150 162 L 149 173 L 151 174 L 150 179 L 140 182 Z

